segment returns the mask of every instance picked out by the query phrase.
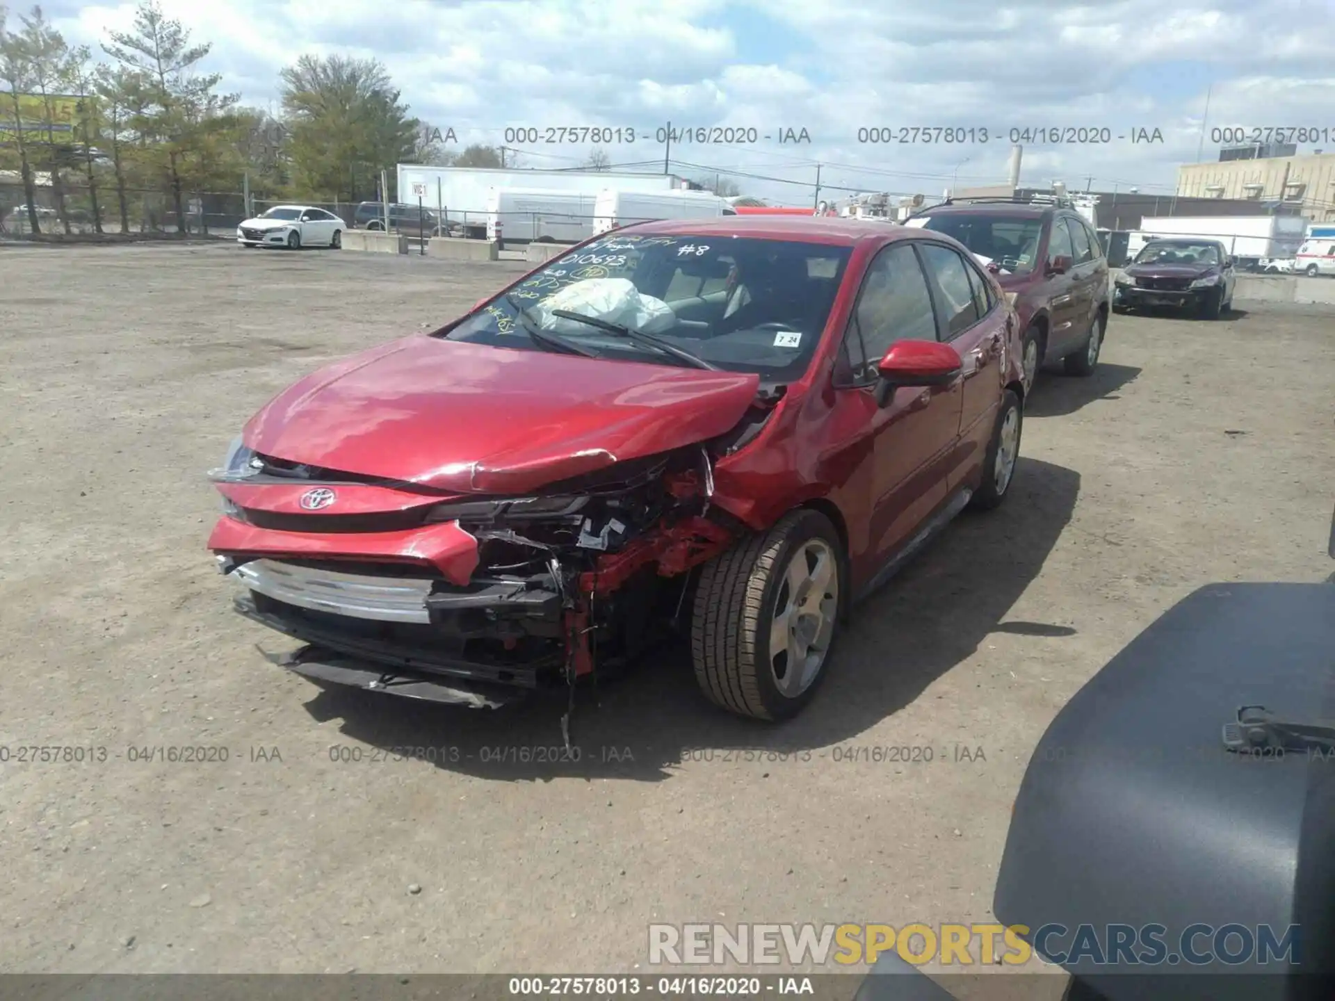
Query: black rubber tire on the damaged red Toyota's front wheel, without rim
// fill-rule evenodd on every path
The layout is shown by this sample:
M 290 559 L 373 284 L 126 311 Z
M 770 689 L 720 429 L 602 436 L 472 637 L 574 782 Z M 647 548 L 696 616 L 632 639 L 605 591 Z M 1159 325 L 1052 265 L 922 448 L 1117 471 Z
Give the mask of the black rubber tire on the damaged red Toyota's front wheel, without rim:
M 810 546 L 821 546 L 833 559 L 837 582 L 832 602 L 830 631 L 814 677 L 796 694 L 785 694 L 770 655 L 770 630 L 780 598 L 788 594 L 789 565 Z M 738 541 L 732 549 L 701 567 L 690 623 L 690 651 L 696 681 L 714 705 L 753 719 L 789 719 L 802 710 L 829 674 L 833 645 L 838 638 L 840 613 L 846 605 L 848 559 L 834 526 L 820 511 L 792 511 L 764 534 Z M 820 599 L 818 599 L 820 601 Z M 793 679 L 797 682 L 798 679 Z M 794 687 L 797 685 L 794 683 Z

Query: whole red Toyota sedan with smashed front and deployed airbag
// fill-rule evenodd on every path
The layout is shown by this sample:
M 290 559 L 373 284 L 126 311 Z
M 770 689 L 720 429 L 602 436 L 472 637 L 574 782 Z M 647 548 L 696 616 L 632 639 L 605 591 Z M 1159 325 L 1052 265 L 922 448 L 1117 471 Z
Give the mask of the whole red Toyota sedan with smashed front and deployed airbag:
M 1015 315 L 953 239 L 646 223 L 279 394 L 211 474 L 288 669 L 470 706 L 689 629 L 717 705 L 797 713 L 840 623 L 1016 467 Z

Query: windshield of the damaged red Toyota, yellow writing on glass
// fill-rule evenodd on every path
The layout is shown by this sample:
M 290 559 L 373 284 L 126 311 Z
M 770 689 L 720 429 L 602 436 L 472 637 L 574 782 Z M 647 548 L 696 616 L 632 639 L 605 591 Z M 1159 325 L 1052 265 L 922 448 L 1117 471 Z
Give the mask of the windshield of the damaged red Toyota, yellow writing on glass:
M 443 336 L 541 351 L 550 350 L 541 334 L 554 334 L 603 358 L 688 363 L 618 336 L 606 328 L 611 323 L 651 334 L 716 368 L 790 382 L 816 351 L 849 254 L 849 247 L 720 234 L 610 234 L 550 262 Z

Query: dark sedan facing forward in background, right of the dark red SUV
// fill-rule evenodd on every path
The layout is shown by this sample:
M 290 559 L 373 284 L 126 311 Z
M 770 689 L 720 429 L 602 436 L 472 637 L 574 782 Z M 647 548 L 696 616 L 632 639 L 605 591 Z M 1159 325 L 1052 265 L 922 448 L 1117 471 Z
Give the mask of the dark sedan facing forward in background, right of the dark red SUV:
M 1172 306 L 1218 319 L 1236 284 L 1234 259 L 1218 240 L 1151 240 L 1115 279 L 1112 308 Z

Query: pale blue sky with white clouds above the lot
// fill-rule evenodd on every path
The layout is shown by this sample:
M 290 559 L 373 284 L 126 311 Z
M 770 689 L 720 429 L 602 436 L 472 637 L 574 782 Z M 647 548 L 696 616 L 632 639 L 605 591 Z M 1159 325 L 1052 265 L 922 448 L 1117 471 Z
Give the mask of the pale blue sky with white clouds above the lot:
M 1107 144 L 1031 136 L 1024 149 L 1024 184 L 1096 191 L 1171 192 L 1179 163 L 1218 159 L 1211 131 L 1226 125 L 1326 129 L 1324 144 L 1300 151 L 1335 152 L 1335 0 L 160 3 L 194 41 L 212 43 L 206 68 L 247 104 L 276 103 L 278 71 L 303 52 L 374 56 L 413 113 L 453 128 L 461 147 L 506 143 L 507 127 L 630 127 L 634 143 L 603 148 L 613 164 L 639 165 L 662 161 L 666 121 L 754 127 L 754 144 L 677 143 L 674 172 L 754 175 L 734 180 L 800 204 L 817 163 L 834 196 L 1003 183 L 1012 128 L 1109 129 Z M 43 7 L 68 40 L 95 48 L 134 17 L 131 3 Z M 860 129 L 897 140 L 914 125 L 989 135 L 858 141 Z M 804 128 L 809 143 L 777 141 Z M 1132 143 L 1137 129 L 1163 139 Z M 570 167 L 590 151 L 509 144 L 526 167 Z

